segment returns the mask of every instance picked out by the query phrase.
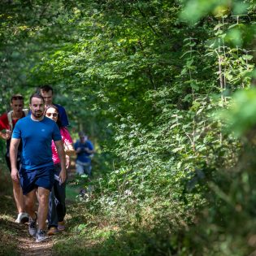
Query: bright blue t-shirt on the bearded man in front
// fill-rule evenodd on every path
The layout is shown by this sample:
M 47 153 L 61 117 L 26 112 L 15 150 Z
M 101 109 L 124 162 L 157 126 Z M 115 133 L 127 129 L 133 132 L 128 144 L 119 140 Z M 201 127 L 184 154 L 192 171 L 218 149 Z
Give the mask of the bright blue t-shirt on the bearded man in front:
M 53 165 L 51 141 L 62 140 L 59 127 L 52 119 L 34 121 L 31 115 L 17 122 L 12 138 L 22 141 L 21 164 L 27 170 Z

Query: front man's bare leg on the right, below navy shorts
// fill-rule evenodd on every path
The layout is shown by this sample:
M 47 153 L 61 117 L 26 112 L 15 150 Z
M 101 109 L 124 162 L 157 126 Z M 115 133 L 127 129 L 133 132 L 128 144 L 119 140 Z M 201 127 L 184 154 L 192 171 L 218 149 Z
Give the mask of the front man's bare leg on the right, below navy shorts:
M 49 194 L 50 190 L 39 187 L 37 189 L 37 200 L 39 202 L 38 206 L 38 229 L 45 230 L 46 228 L 46 218 L 48 214 L 49 206 Z

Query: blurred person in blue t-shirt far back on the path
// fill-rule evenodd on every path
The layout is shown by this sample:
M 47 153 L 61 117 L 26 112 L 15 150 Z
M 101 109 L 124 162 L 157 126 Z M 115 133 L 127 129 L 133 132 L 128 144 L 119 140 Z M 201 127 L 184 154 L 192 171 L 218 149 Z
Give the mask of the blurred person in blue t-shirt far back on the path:
M 74 149 L 76 150 L 76 173 L 92 176 L 91 157 L 94 153 L 93 143 L 88 140 L 85 132 L 79 132 L 80 140 L 77 140 Z

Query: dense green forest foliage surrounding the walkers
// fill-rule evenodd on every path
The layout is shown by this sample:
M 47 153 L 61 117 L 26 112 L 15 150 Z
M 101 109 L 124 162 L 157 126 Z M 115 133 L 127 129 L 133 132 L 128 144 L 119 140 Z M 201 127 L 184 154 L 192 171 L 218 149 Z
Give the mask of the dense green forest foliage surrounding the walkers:
M 2 0 L 0 111 L 13 93 L 28 106 L 54 87 L 72 135 L 83 128 L 98 145 L 100 189 L 83 206 L 155 241 L 141 238 L 137 255 L 248 255 L 255 6 Z

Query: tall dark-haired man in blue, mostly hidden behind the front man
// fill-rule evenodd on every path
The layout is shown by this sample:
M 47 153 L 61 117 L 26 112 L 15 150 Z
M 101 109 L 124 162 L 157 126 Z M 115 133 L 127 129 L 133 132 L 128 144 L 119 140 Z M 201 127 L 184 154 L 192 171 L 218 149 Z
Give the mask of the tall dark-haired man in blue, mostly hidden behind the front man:
M 42 97 L 45 99 L 46 106 L 54 105 L 54 106 L 58 107 L 59 119 L 61 121 L 61 126 L 67 127 L 68 119 L 67 119 L 67 113 L 66 113 L 65 108 L 59 104 L 53 103 L 54 89 L 50 85 L 44 85 L 44 86 L 41 86 L 40 93 L 41 93 Z

